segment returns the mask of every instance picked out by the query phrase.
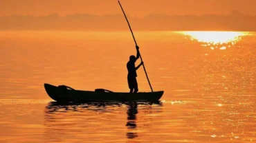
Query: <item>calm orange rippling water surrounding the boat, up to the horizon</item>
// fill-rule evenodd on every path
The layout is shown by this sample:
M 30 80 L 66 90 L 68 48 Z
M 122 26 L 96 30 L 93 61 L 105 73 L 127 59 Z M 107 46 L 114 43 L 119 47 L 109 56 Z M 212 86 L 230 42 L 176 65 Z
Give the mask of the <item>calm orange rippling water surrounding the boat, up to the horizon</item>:
M 57 104 L 44 91 L 129 91 L 129 32 L 0 32 L 0 142 L 256 142 L 256 33 L 135 34 L 158 104 Z M 150 91 L 142 68 L 138 84 Z

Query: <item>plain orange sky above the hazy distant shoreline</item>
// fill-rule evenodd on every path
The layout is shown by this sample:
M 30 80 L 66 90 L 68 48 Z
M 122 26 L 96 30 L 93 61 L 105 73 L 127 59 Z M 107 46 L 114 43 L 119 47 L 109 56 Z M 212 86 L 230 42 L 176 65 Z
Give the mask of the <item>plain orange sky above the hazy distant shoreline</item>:
M 255 0 L 120 0 L 131 16 L 145 14 L 256 14 Z M 196 1 L 196 2 L 195 2 Z M 120 14 L 116 0 L 1 0 L 0 16 L 10 14 Z

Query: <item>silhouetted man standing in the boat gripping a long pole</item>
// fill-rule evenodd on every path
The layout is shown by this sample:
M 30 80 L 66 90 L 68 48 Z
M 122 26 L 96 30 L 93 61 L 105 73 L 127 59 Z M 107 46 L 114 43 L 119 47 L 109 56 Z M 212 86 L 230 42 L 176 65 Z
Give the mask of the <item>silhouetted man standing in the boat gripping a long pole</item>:
M 141 62 L 140 65 L 138 65 L 138 67 L 135 67 L 135 62 L 138 60 L 138 58 L 140 58 L 140 52 L 138 51 L 138 49 L 139 49 L 139 47 L 138 47 L 138 45 L 136 45 L 137 56 L 135 57 L 134 55 L 131 55 L 129 62 L 127 63 L 127 69 L 128 69 L 127 80 L 128 80 L 130 93 L 138 92 L 138 83 L 136 80 L 136 77 L 137 77 L 136 70 L 141 65 L 143 65 L 143 62 Z

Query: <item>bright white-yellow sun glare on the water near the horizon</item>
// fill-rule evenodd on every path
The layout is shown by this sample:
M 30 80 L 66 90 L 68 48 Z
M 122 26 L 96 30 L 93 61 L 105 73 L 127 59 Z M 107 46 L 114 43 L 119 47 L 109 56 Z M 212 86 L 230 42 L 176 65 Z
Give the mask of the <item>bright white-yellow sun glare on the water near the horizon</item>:
M 191 41 L 198 41 L 201 46 L 210 47 L 212 50 L 226 50 L 234 46 L 246 32 L 181 32 Z

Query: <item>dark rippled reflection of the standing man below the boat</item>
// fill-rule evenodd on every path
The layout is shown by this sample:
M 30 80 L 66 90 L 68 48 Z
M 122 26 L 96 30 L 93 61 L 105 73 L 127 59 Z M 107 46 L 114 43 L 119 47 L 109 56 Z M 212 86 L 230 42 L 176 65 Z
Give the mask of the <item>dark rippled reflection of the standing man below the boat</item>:
M 130 102 L 127 110 L 127 129 L 134 131 L 136 129 L 136 114 L 138 113 L 138 104 L 136 102 Z M 137 133 L 127 132 L 127 138 L 133 139 L 138 137 Z

